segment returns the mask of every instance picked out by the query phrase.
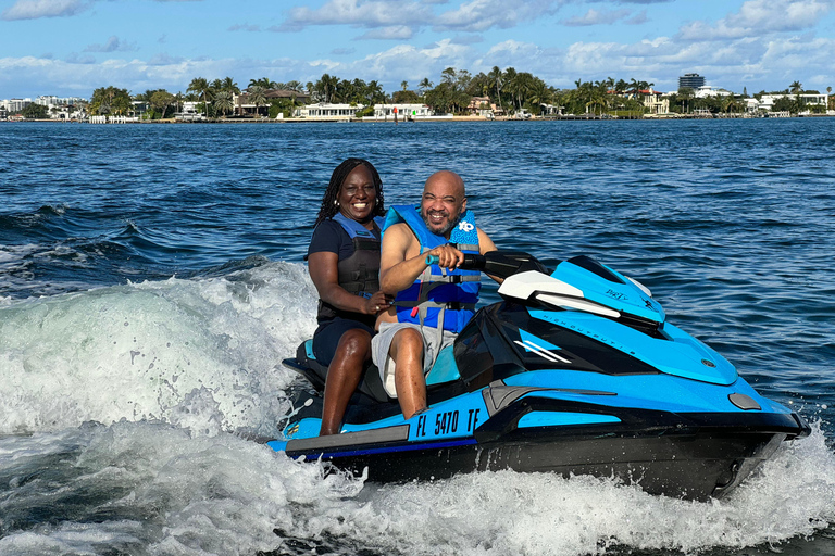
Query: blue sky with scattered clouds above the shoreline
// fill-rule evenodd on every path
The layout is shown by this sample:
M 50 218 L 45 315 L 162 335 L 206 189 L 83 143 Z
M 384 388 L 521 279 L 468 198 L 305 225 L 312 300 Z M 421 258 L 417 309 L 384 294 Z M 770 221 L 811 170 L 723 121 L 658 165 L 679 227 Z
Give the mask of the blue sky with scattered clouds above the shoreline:
M 513 66 L 549 85 L 696 72 L 835 87 L 835 0 L 0 0 L 0 99 L 185 91 L 194 77 L 376 79 Z

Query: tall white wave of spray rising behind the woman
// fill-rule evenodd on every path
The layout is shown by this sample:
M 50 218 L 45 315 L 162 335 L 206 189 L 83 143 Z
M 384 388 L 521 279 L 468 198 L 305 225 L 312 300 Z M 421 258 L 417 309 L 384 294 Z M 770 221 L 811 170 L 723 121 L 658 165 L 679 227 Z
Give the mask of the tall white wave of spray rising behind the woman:
M 275 434 L 312 334 L 302 265 L 102 288 L 0 306 L 0 433 L 165 419 Z

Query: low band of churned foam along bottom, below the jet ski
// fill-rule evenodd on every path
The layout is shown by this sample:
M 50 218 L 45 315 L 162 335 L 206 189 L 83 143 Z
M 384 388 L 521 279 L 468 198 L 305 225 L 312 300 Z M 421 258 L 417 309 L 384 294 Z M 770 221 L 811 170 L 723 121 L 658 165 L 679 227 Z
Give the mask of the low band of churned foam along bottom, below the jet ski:
M 0 478 L 14 491 L 2 502 L 7 523 L 43 508 L 64 518 L 9 531 L 3 555 L 254 554 L 282 547 L 274 530 L 337 554 L 585 556 L 615 545 L 695 554 L 780 548 L 835 520 L 835 456 L 819 428 L 726 500 L 706 503 L 512 471 L 363 484 L 228 433 L 128 421 L 0 439 Z

